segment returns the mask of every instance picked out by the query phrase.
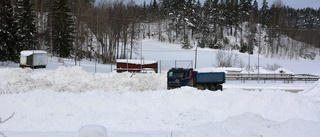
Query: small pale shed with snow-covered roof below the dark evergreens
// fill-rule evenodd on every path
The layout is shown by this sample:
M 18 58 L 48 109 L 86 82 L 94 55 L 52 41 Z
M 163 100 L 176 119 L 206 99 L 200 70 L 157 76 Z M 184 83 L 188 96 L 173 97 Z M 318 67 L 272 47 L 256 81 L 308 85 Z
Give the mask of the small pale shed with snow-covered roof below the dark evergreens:
M 45 68 L 47 52 L 42 50 L 24 50 L 20 52 L 20 67 Z

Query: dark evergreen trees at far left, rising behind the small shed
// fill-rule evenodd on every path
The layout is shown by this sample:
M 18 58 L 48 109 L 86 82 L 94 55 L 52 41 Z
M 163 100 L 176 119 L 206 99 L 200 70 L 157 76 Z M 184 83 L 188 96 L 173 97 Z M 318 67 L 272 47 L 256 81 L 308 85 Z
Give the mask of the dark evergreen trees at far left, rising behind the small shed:
M 71 56 L 74 21 L 67 1 L 8 0 L 1 3 L 0 18 L 1 61 L 18 62 L 20 51 L 34 49 Z

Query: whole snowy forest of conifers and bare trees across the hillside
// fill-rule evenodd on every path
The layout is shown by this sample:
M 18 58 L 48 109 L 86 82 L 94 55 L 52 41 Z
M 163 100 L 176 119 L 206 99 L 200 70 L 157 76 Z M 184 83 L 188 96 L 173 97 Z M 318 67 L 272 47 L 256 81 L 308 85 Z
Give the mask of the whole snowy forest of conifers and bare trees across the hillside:
M 287 59 L 320 55 L 320 8 L 281 0 L 8 0 L 0 3 L 0 61 L 22 50 L 112 63 L 133 58 L 142 39 L 182 48 L 238 50 Z M 235 40 L 235 41 L 234 41 Z

